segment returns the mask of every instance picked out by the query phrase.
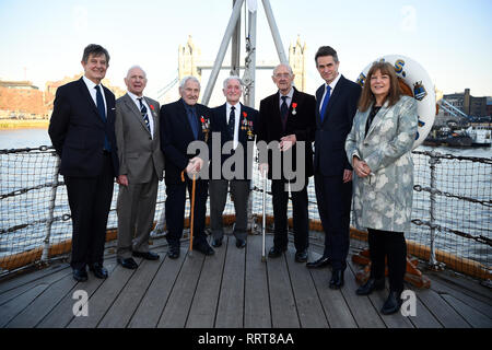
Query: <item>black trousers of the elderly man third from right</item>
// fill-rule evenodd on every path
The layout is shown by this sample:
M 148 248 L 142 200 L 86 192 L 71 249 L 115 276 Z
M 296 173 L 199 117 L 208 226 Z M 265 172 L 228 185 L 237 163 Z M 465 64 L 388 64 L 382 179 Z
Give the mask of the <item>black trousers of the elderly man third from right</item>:
M 285 248 L 289 244 L 288 237 L 288 203 L 289 189 L 285 190 L 285 179 L 272 179 L 271 192 L 273 197 L 273 223 L 274 236 L 273 245 Z M 307 184 L 309 178 L 298 191 L 292 191 L 292 211 L 294 223 L 294 246 L 297 252 L 302 252 L 309 245 L 309 218 L 307 211 Z

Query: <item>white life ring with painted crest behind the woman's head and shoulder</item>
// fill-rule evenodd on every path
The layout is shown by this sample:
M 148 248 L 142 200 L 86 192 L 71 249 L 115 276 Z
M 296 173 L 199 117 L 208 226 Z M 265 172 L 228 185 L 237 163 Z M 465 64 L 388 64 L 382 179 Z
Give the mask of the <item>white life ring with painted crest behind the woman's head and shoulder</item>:
M 395 67 L 397 77 L 400 78 L 412 96 L 417 100 L 417 113 L 419 115 L 419 130 L 412 149 L 419 147 L 431 131 L 436 115 L 435 90 L 427 72 L 411 58 L 401 55 L 383 56 L 376 61 L 386 61 Z M 373 63 L 364 68 L 358 78 L 358 84 L 364 85 L 367 72 Z

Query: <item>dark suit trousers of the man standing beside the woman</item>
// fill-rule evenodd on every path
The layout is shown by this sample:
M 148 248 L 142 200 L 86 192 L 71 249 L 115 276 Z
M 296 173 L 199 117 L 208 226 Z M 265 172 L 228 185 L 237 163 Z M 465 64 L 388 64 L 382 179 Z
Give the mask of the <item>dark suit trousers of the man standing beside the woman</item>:
M 325 231 L 324 257 L 331 259 L 333 269 L 347 268 L 350 247 L 350 206 L 352 182 L 343 184 L 340 176 L 315 174 L 316 200 Z

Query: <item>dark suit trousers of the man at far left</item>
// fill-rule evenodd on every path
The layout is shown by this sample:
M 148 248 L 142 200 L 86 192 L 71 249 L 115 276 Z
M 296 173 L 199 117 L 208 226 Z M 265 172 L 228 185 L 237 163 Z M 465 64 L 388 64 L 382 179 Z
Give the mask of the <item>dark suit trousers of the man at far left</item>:
M 110 155 L 104 156 L 102 173 L 96 177 L 65 176 L 72 215 L 72 259 L 74 269 L 103 264 L 114 171 Z

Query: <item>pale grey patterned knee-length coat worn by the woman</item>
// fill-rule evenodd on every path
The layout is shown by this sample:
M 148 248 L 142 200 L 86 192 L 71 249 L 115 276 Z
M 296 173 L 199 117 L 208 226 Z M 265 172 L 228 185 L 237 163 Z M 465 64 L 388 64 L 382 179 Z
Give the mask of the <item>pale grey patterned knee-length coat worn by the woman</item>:
M 417 135 L 417 104 L 402 96 L 393 107 L 383 105 L 365 133 L 371 107 L 355 114 L 347 137 L 350 164 L 353 155 L 365 161 L 372 173 L 353 176 L 353 213 L 360 230 L 405 232 L 410 229 L 413 196 L 412 144 Z M 353 165 L 353 164 L 352 164 Z

